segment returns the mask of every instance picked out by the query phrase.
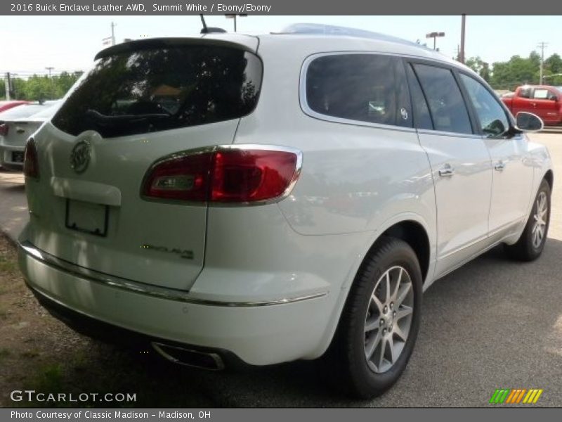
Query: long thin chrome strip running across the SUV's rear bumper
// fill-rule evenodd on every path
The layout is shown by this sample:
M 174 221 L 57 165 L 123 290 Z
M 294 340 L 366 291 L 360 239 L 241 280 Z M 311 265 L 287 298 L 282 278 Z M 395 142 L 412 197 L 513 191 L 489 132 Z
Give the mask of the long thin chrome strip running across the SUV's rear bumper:
M 142 295 L 152 296 L 153 298 L 160 298 L 165 300 L 174 300 L 176 302 L 185 302 L 193 305 L 208 305 L 208 306 L 218 306 L 218 307 L 261 307 L 270 305 L 284 305 L 287 303 L 301 302 L 302 300 L 309 300 L 315 298 L 321 298 L 328 294 L 327 291 L 320 293 L 311 293 L 308 295 L 294 296 L 291 298 L 280 298 L 273 300 L 249 300 L 249 301 L 232 301 L 223 302 L 220 300 L 206 300 L 193 298 L 189 292 L 176 290 L 172 288 L 164 288 L 158 286 L 152 286 L 146 283 L 140 283 L 138 281 L 132 281 L 129 279 L 122 279 L 117 276 L 110 276 L 100 271 L 95 271 L 93 269 L 88 269 L 86 267 L 81 267 L 77 264 L 72 264 L 65 260 L 61 260 L 39 248 L 36 248 L 29 241 L 24 241 L 18 243 L 20 251 L 26 255 L 30 255 L 33 259 L 48 265 L 59 271 L 64 271 L 66 273 L 78 276 L 81 279 L 87 279 L 96 283 L 100 283 L 103 286 L 119 288 L 121 290 L 126 290 L 130 293 L 139 293 Z

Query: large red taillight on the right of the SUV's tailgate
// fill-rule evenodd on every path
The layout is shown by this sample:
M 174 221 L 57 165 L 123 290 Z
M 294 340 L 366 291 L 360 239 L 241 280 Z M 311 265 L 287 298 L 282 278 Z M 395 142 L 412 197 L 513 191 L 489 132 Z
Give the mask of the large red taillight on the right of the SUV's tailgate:
M 150 199 L 260 203 L 287 195 L 299 177 L 301 152 L 287 148 L 223 146 L 171 155 L 149 170 L 142 195 Z

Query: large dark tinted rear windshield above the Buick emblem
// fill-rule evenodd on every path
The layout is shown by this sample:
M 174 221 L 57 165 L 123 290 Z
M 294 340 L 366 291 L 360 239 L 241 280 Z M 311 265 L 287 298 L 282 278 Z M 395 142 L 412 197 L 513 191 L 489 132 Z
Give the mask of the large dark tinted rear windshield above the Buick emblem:
M 53 118 L 59 129 L 102 136 L 230 120 L 256 106 L 262 66 L 223 46 L 164 46 L 100 58 Z

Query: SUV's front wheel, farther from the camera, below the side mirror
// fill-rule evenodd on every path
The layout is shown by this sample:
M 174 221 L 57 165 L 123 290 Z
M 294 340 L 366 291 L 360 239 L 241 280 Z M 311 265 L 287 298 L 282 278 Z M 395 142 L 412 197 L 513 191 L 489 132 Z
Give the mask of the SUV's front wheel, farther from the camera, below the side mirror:
M 540 257 L 549 231 L 550 196 L 550 185 L 543 179 L 532 204 L 523 234 L 514 245 L 505 246 L 507 255 L 512 259 L 532 261 Z

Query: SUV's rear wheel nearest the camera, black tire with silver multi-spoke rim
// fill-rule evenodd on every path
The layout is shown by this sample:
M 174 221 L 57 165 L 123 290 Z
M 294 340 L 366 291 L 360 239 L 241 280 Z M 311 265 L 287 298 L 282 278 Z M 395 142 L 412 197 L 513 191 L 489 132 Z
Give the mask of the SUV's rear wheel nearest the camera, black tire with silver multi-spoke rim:
M 332 344 L 332 369 L 348 394 L 381 395 L 404 371 L 419 328 L 421 284 L 410 245 L 382 238 L 355 277 Z

